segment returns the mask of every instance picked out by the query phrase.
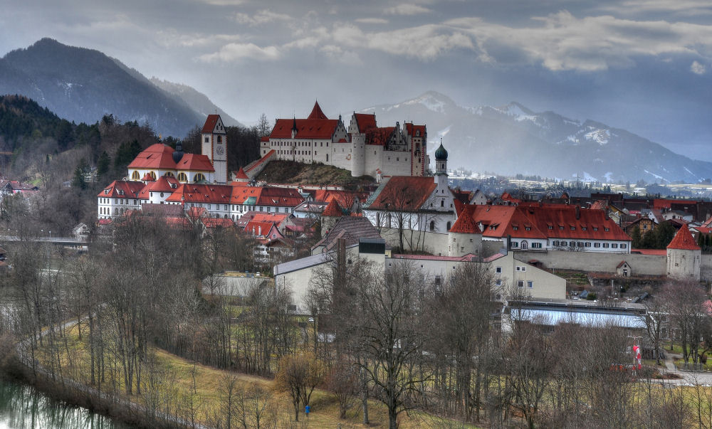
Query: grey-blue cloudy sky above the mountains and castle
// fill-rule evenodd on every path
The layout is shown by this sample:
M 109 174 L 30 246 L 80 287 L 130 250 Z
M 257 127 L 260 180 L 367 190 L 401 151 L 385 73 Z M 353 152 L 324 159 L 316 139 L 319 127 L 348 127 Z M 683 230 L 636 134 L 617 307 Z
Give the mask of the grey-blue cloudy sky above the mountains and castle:
M 0 0 L 0 55 L 43 37 L 191 85 L 247 123 L 436 90 L 712 161 L 709 0 Z

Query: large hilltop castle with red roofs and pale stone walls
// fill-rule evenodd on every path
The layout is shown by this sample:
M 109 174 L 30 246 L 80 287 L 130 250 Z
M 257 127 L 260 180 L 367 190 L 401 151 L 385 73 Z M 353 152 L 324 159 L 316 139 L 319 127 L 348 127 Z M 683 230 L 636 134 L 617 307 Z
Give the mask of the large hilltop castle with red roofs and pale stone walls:
M 261 139 L 260 154 L 332 165 L 379 181 L 382 176 L 425 176 L 426 144 L 425 125 L 396 122 L 394 127 L 378 127 L 375 114 L 354 112 L 346 128 L 341 115 L 330 120 L 315 102 L 306 119 L 276 120 L 270 135 Z

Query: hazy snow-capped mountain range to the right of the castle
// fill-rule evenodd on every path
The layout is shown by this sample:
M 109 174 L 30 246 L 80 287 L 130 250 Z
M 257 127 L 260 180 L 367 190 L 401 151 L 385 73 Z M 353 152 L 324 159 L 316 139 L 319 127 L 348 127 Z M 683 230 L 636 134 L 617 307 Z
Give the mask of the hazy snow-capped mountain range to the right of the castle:
M 375 112 L 380 126 L 403 120 L 425 123 L 429 152 L 442 137 L 450 168 L 589 181 L 696 183 L 712 178 L 711 162 L 676 154 L 624 129 L 533 112 L 517 102 L 461 107 L 430 91 L 361 112 Z

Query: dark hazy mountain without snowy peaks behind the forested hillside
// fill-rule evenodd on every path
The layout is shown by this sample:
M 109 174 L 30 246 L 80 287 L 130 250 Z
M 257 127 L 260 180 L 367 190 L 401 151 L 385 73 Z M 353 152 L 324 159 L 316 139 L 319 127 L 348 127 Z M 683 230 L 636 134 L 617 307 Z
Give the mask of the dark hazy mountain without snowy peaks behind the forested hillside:
M 30 97 L 74 122 L 94 123 L 112 114 L 124 122 L 147 122 L 157 133 L 179 138 L 203 125 L 206 117 L 120 61 L 50 38 L 0 58 L 2 94 Z

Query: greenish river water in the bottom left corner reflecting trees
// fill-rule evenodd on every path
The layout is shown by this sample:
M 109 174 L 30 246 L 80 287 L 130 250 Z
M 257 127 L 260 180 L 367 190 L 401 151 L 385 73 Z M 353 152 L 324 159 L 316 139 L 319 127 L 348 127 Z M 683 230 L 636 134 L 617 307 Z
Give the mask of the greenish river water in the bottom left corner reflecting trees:
M 130 429 L 86 408 L 54 401 L 21 381 L 0 376 L 0 429 Z

